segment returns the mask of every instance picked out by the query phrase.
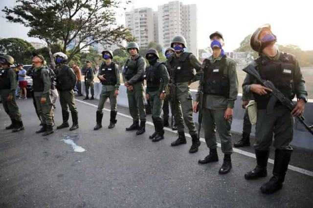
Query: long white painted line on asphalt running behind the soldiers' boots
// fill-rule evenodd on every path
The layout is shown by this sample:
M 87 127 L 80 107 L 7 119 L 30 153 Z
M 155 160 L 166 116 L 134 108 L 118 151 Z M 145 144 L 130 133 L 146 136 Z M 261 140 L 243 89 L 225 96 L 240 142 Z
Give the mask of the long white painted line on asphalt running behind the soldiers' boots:
M 81 100 L 77 100 L 77 99 L 75 99 L 75 101 L 80 102 L 80 103 L 83 103 L 83 104 L 88 104 L 88 105 L 93 106 L 93 107 L 98 107 L 98 105 L 89 104 L 89 103 L 87 103 L 87 102 L 85 102 L 85 101 L 81 101 Z M 103 109 L 106 110 L 106 111 L 111 111 L 110 109 L 107 109 L 107 108 L 103 108 Z M 120 115 L 120 116 L 124 116 L 124 117 L 126 117 L 126 118 L 129 118 L 129 119 L 133 119 L 131 116 L 126 115 L 126 114 L 124 114 L 124 113 L 119 113 L 119 112 L 117 112 L 117 114 Z M 152 122 L 148 122 L 148 121 L 146 122 L 146 124 L 153 125 Z M 167 130 L 167 131 L 176 133 L 176 131 L 173 131 L 171 128 L 164 127 L 164 129 Z M 187 137 L 190 137 L 190 138 L 191 138 L 190 134 L 185 133 L 185 135 L 186 135 Z M 200 138 L 200 141 L 203 142 L 203 143 L 205 143 L 205 139 L 202 138 L 202 137 Z M 218 146 L 218 147 L 221 147 L 221 144 L 218 143 L 217 146 Z M 253 154 L 253 153 L 246 152 L 246 151 L 244 151 L 244 150 L 237 149 L 237 148 L 233 148 L 233 150 L 234 150 L 234 152 L 237 152 L 237 153 L 239 153 L 239 154 L 242 154 L 242 155 L 245 155 L 245 156 L 248 156 L 248 157 L 255 158 L 255 154 Z M 274 164 L 274 160 L 268 159 L 268 163 Z M 288 169 L 313 177 L 313 172 L 310 171 L 310 170 L 306 170 L 306 169 L 303 169 L 303 168 L 300 168 L 300 167 L 296 167 L 296 166 L 291 166 L 291 165 L 288 166 Z

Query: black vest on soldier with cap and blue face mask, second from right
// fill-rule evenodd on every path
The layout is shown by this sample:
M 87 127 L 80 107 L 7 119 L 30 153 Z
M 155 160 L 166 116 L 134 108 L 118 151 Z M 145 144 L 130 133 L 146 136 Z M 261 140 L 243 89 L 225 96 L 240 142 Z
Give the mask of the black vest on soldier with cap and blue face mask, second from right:
M 211 63 L 204 60 L 203 93 L 229 97 L 229 79 L 225 77 L 226 56 L 221 61 Z

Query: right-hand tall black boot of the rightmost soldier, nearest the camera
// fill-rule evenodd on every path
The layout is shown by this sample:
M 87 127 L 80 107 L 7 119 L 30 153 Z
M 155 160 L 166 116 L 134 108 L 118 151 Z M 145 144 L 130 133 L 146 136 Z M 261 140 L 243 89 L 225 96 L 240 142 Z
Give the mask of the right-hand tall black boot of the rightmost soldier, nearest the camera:
M 291 149 L 275 150 L 273 176 L 269 179 L 268 183 L 265 183 L 260 187 L 262 193 L 274 193 L 283 187 L 291 153 Z

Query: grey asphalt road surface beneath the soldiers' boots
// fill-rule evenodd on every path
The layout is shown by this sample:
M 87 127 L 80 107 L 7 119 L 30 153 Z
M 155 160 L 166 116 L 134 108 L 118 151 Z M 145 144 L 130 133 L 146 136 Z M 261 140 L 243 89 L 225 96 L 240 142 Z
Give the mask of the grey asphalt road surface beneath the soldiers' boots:
M 177 138 L 173 132 L 166 131 L 166 138 L 158 143 L 148 139 L 152 125 L 140 136 L 126 132 L 132 120 L 125 108 L 119 108 L 127 115 L 117 116 L 115 128 L 107 128 L 110 113 L 105 111 L 104 127 L 94 131 L 96 108 L 92 104 L 97 101 L 87 103 L 76 102 L 77 130 L 55 129 L 47 137 L 35 134 L 40 126 L 31 99 L 18 101 L 25 126 L 19 133 L 3 130 L 9 118 L 0 107 L 0 207 L 312 207 L 312 176 L 288 170 L 283 189 L 264 195 L 259 187 L 271 174 L 256 181 L 243 177 L 255 166 L 254 158 L 235 152 L 231 172 L 219 175 L 220 148 L 218 163 L 198 165 L 198 159 L 208 154 L 205 143 L 198 153 L 189 154 L 190 138 L 187 145 L 170 146 Z M 60 125 L 59 103 L 54 112 Z M 87 151 L 74 152 L 61 141 L 66 138 Z M 234 138 L 237 141 L 239 136 Z M 253 152 L 252 147 L 243 150 Z M 312 171 L 312 156 L 312 152 L 295 150 L 291 165 Z

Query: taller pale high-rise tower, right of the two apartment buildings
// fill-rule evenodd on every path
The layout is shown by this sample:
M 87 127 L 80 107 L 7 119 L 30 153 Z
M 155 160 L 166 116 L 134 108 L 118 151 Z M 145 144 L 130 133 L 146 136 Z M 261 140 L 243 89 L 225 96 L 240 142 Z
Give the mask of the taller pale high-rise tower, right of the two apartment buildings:
M 187 50 L 198 57 L 197 5 L 183 5 L 170 1 L 158 6 L 158 41 L 162 47 L 169 47 L 172 39 L 182 35 L 187 41 Z

